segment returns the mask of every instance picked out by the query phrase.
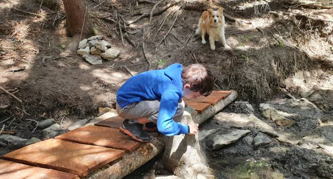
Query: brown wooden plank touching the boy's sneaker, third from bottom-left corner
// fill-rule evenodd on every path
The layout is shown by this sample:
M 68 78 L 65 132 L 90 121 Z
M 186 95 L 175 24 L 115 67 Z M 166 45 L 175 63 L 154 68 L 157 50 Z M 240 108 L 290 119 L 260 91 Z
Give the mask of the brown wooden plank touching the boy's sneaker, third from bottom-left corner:
M 101 126 L 80 127 L 57 136 L 55 139 L 121 149 L 129 152 L 140 146 L 140 142 L 123 135 L 119 129 Z

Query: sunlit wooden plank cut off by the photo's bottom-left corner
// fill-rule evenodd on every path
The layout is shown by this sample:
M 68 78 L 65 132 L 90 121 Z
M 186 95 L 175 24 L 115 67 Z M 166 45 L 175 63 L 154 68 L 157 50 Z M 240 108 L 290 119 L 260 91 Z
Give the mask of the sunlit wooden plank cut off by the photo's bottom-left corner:
M 0 159 L 0 179 L 80 179 L 77 175 Z

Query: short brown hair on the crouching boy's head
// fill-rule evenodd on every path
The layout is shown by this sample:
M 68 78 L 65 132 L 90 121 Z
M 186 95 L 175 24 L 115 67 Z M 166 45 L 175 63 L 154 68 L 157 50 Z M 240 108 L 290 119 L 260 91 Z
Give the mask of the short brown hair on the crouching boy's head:
M 213 74 L 202 64 L 191 64 L 186 66 L 183 68 L 181 78 L 183 85 L 190 84 L 190 89 L 192 91 L 200 92 L 203 96 L 208 96 L 213 91 Z

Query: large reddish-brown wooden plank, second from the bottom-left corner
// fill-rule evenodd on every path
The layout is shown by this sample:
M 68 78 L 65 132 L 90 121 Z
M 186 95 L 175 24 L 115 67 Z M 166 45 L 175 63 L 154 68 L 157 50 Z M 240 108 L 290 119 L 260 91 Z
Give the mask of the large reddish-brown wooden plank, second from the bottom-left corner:
M 9 152 L 2 158 L 83 177 L 123 155 L 123 150 L 49 139 Z

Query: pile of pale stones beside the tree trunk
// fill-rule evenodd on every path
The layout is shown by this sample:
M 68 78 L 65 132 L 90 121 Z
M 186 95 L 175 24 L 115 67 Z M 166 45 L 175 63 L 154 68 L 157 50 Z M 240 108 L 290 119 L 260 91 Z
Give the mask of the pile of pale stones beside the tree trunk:
M 96 35 L 80 41 L 77 53 L 91 64 L 102 64 L 102 58 L 116 59 L 120 50 L 112 48 L 111 43 L 102 38 L 103 36 Z

